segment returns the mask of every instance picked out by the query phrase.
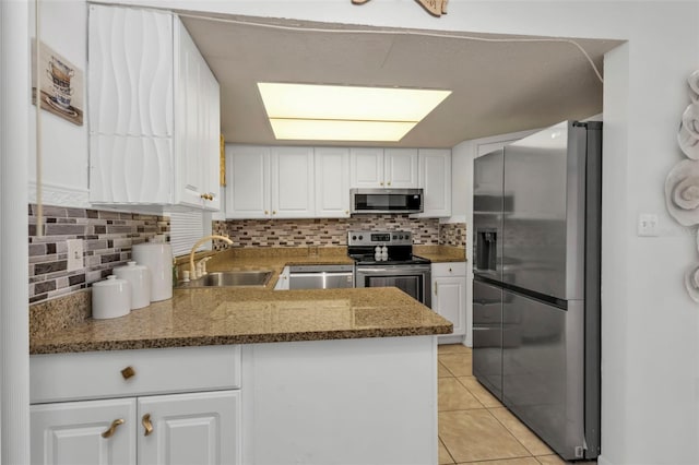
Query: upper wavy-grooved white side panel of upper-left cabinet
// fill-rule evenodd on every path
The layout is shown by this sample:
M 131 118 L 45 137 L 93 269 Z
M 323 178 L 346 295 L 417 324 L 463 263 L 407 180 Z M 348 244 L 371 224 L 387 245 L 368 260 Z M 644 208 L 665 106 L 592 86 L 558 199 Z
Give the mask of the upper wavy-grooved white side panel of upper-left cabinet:
M 173 135 L 173 16 L 90 7 L 91 133 Z

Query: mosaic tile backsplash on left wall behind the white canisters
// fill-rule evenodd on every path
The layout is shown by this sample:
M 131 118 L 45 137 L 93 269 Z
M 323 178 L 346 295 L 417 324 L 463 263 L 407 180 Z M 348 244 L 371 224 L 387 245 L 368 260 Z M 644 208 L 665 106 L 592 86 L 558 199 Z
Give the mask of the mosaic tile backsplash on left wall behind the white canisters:
M 37 236 L 36 205 L 28 208 L 29 303 L 84 289 L 131 259 L 131 246 L 169 235 L 169 218 L 102 210 L 44 206 Z M 83 239 L 84 269 L 67 271 L 68 239 Z

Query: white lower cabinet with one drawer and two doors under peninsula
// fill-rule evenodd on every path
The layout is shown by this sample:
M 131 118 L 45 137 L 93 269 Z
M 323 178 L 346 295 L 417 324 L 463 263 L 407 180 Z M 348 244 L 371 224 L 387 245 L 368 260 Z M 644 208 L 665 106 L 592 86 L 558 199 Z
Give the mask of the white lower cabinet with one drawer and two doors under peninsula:
M 32 384 L 45 386 L 31 397 L 33 465 L 242 463 L 237 346 L 29 360 Z M 105 393 L 116 398 L 99 398 Z

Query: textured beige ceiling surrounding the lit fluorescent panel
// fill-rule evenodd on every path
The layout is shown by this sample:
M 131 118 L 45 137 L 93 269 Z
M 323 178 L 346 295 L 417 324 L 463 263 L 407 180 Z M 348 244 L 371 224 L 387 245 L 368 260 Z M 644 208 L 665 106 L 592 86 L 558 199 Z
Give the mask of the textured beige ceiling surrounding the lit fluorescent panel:
M 234 16 L 185 15 L 182 21 L 221 83 L 222 130 L 228 142 L 289 145 L 272 134 L 256 86 L 262 81 L 453 91 L 402 141 L 384 146 L 452 147 L 464 140 L 602 111 L 602 83 L 584 55 L 568 41 L 545 41 L 549 38 L 544 37 L 516 41 L 524 37 L 458 33 L 507 39 L 485 41 L 423 35 L 448 33 L 284 20 L 271 24 L 269 19 Z M 600 72 L 603 55 L 620 44 L 574 40 Z

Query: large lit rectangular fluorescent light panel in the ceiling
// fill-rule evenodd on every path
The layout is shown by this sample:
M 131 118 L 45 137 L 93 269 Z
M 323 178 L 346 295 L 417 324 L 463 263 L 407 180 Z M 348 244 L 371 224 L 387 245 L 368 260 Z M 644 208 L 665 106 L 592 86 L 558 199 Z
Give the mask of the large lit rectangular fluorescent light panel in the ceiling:
M 451 91 L 258 83 L 277 140 L 400 141 Z

